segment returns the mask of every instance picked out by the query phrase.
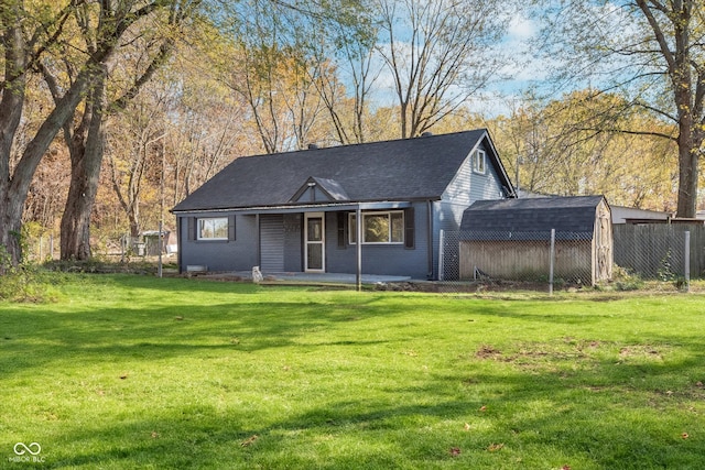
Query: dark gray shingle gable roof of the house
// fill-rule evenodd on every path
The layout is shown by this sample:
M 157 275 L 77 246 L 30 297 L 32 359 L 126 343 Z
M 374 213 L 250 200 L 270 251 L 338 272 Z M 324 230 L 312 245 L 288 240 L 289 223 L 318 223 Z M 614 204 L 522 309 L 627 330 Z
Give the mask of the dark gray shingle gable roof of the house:
M 350 201 L 437 199 L 485 129 L 357 145 L 239 157 L 181 201 L 174 211 L 293 205 L 311 177 Z M 491 149 L 491 143 L 486 145 Z M 489 150 L 489 149 L 488 149 Z M 500 178 L 507 178 L 490 153 Z M 502 182 L 509 185 L 509 182 Z

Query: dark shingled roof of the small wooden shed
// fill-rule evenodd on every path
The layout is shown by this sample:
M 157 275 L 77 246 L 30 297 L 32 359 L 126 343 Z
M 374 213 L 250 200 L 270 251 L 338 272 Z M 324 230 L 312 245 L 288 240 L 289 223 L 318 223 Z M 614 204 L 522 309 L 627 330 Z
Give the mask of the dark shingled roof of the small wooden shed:
M 593 232 L 604 196 L 478 200 L 463 214 L 460 230 Z

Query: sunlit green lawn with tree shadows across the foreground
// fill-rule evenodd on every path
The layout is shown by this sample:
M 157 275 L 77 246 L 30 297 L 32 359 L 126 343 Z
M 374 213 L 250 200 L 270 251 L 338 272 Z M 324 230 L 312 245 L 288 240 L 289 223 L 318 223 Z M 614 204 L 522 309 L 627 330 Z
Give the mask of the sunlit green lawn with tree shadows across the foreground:
M 705 466 L 699 295 L 54 278 L 0 303 L 0 468 Z

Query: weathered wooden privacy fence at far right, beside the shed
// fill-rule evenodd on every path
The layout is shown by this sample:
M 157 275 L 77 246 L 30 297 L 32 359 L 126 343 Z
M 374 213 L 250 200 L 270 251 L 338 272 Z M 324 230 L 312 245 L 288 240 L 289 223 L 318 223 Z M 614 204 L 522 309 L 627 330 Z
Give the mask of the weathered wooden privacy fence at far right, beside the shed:
M 705 275 L 705 226 L 702 223 L 617 225 L 615 264 L 644 278 L 668 281 Z M 690 247 L 685 245 L 690 232 Z

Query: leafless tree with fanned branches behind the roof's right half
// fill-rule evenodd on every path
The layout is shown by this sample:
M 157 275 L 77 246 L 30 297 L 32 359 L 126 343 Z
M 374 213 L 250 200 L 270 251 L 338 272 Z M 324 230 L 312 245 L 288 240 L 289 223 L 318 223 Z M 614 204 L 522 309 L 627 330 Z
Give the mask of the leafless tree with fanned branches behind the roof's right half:
M 415 136 L 487 85 L 501 57 L 492 46 L 511 2 L 379 0 L 378 44 L 400 112 L 401 138 Z

